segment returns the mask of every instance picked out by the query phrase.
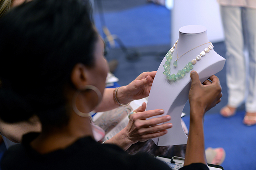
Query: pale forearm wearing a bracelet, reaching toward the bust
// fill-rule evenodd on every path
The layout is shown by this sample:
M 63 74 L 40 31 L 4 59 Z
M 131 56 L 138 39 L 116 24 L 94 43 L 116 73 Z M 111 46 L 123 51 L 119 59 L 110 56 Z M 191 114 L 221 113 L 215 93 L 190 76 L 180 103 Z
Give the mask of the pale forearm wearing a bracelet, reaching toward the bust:
M 125 89 L 126 89 L 126 86 L 121 86 L 117 91 L 117 99 L 118 99 L 118 102 L 120 102 L 121 104 L 127 104 L 133 100 L 133 99 L 127 98 Z M 109 111 L 114 108 L 120 107 L 114 101 L 113 91 L 114 91 L 114 88 L 105 88 L 102 101 L 94 109 L 95 112 L 104 112 L 104 111 Z

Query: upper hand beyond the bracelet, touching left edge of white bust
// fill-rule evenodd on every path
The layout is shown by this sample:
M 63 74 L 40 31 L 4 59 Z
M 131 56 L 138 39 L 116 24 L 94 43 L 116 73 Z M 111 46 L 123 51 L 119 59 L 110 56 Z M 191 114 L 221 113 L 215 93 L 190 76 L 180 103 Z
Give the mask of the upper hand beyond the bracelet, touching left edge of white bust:
M 118 101 L 126 104 L 133 100 L 148 97 L 156 73 L 157 71 L 143 72 L 127 86 L 120 87 Z

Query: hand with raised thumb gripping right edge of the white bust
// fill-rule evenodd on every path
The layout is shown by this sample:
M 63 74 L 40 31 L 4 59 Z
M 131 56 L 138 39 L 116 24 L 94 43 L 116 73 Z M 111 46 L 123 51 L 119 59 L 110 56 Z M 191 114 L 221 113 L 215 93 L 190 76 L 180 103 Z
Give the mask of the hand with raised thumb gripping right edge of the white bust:
M 211 81 L 206 80 L 201 84 L 196 71 L 191 71 L 190 77 L 192 80 L 189 90 L 190 114 L 198 113 L 197 109 L 202 109 L 204 114 L 221 101 L 222 92 L 219 79 L 212 75 L 209 78 Z M 200 116 L 203 117 L 203 115 Z

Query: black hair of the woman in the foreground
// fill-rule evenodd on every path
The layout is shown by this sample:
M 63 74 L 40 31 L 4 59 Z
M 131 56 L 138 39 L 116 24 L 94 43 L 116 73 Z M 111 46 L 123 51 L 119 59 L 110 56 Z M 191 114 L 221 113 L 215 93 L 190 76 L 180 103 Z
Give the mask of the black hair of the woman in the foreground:
M 64 87 L 77 63 L 94 65 L 98 38 L 89 1 L 33 0 L 0 19 L 0 118 L 38 115 L 43 126 L 68 123 Z

